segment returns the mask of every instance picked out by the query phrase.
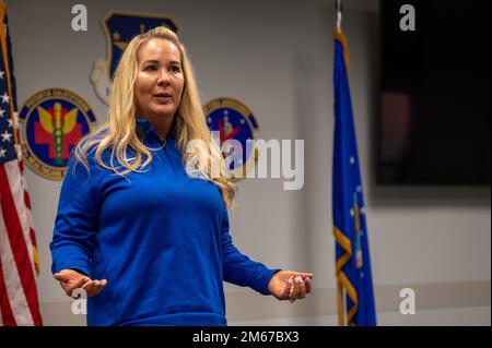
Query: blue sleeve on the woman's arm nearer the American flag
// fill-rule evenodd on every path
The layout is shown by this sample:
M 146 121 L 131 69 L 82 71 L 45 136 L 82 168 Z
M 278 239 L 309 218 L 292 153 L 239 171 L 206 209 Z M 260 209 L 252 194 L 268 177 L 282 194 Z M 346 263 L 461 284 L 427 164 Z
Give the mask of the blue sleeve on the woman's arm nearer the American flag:
M 101 171 L 89 160 L 90 172 L 72 156 L 61 185 L 55 219 L 51 250 L 51 272 L 71 268 L 92 278 L 91 260 L 98 230 L 101 205 Z

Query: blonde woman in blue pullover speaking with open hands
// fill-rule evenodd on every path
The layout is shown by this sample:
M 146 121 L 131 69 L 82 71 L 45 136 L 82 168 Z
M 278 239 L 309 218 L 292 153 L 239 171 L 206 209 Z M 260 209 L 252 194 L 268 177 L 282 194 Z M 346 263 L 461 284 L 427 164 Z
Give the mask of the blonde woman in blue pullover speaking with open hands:
M 223 280 L 291 302 L 311 291 L 313 274 L 267 268 L 232 243 L 235 187 L 210 137 L 177 36 L 136 36 L 109 121 L 71 158 L 50 243 L 66 293 L 90 297 L 89 325 L 226 325 Z M 192 140 L 209 145 L 187 149 Z

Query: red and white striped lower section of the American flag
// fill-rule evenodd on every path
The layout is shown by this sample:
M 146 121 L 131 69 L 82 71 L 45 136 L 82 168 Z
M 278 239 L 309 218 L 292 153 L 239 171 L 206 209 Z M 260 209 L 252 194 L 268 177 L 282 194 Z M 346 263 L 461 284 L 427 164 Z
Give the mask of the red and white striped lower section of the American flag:
M 0 323 L 42 325 L 33 255 L 31 209 L 22 164 L 0 166 Z

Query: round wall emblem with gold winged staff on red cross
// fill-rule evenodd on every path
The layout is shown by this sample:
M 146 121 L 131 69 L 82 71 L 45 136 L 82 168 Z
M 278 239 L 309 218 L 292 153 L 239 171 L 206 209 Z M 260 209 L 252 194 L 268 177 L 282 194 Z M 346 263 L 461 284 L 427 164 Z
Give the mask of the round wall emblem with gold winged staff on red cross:
M 24 103 L 23 158 L 38 175 L 61 180 L 73 146 L 91 132 L 96 119 L 87 103 L 65 88 L 43 89 Z

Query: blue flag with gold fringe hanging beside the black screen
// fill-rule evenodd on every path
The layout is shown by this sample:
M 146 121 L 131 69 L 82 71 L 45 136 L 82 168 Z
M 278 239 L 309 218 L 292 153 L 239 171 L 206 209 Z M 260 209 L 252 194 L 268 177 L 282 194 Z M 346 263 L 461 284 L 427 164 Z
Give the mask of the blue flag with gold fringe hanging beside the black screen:
M 341 31 L 335 37 L 333 235 L 339 325 L 376 325 L 364 196 L 353 123 L 349 51 Z

